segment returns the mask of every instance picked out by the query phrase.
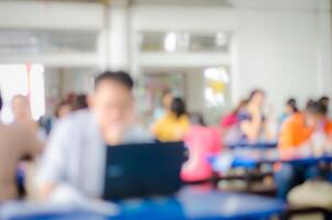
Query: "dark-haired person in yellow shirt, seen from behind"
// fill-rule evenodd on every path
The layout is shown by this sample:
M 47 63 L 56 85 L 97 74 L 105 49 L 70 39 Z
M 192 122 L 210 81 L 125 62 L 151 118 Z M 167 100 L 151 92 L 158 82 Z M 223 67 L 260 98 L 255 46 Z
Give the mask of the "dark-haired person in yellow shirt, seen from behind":
M 186 103 L 181 98 L 175 98 L 168 111 L 153 127 L 153 133 L 158 141 L 171 142 L 182 140 L 189 129 L 189 117 Z

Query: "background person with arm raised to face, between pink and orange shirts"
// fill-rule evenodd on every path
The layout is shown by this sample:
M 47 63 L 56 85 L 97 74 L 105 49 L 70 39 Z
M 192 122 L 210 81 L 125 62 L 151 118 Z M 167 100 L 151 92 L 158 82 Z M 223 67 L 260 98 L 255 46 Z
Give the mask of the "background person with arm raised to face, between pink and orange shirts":
M 243 111 L 239 113 L 239 127 L 243 142 L 255 143 L 259 141 L 273 141 L 270 131 L 270 118 L 264 116 L 265 92 L 255 89 L 251 92 Z

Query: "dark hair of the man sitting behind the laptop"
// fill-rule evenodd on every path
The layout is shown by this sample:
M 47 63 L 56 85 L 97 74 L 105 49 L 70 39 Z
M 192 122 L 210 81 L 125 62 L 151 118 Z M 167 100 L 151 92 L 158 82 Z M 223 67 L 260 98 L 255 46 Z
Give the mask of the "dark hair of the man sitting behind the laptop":
M 125 86 L 129 90 L 132 90 L 134 87 L 134 80 L 132 77 L 125 73 L 125 72 L 110 72 L 107 70 L 102 74 L 100 74 L 96 79 L 95 79 L 95 89 L 98 88 L 100 82 L 106 81 L 106 80 L 111 80 L 111 81 L 117 81 Z

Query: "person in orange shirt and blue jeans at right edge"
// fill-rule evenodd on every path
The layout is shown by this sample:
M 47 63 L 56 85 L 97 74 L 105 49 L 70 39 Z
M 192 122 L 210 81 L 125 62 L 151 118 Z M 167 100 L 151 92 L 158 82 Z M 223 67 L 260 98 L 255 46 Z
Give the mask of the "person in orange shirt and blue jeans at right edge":
M 319 101 L 309 101 L 305 112 L 297 112 L 285 121 L 279 136 L 281 157 L 316 153 L 327 142 L 331 143 L 332 122 L 328 120 L 327 107 Z M 281 164 L 275 173 L 278 197 L 286 199 L 288 191 L 309 178 L 320 176 L 317 165 Z

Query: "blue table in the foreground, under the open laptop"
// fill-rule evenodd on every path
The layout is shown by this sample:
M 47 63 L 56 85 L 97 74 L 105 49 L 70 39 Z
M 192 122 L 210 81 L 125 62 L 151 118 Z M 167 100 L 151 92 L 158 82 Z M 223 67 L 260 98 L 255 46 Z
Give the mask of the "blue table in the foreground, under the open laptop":
M 286 205 L 277 199 L 261 196 L 220 193 L 207 188 L 188 187 L 175 197 L 144 200 L 126 200 L 118 202 L 120 213 L 113 217 L 73 211 L 60 213 L 43 213 L 11 218 L 11 220 L 35 219 L 268 219 L 280 215 Z

